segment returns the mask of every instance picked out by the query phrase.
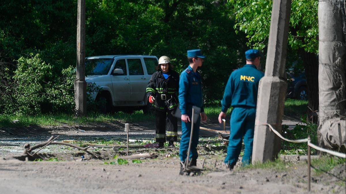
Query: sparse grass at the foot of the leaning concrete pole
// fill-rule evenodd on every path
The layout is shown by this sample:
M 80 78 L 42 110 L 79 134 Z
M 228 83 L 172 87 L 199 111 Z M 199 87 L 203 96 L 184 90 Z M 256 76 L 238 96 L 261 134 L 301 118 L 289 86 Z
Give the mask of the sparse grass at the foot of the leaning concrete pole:
M 293 166 L 290 162 L 281 161 L 280 158 L 276 159 L 275 161 L 267 161 L 264 163 L 255 163 L 250 164 L 244 167 L 241 167 L 240 169 L 274 169 L 276 171 L 285 171 L 289 167 Z

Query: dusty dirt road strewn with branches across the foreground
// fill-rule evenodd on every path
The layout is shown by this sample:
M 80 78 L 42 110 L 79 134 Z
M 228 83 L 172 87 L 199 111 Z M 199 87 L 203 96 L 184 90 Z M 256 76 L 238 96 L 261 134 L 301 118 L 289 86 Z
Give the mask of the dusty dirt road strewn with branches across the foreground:
M 294 122 L 291 124 L 294 125 Z M 131 125 L 133 130 L 130 138 L 152 139 L 155 132 L 148 126 Z M 206 171 L 200 176 L 179 175 L 178 148 L 144 151 L 155 153 L 158 157 L 141 159 L 142 163 L 139 164 L 132 161 L 118 164 L 113 156 L 123 154 L 121 150 L 101 150 L 100 160 L 80 161 L 83 153 L 63 146 L 47 146 L 41 151 L 51 153 L 49 157 L 57 161 L 22 162 L 13 159 L 13 156 L 21 154 L 26 142 L 36 144 L 51 135 L 61 135 L 59 140 L 103 138 L 124 141 L 126 135 L 122 127 L 123 124 L 115 123 L 101 128 L 60 126 L 30 130 L 1 129 L 0 193 L 307 193 L 306 162 L 287 165 L 281 170 L 243 169 L 237 166 L 233 172 L 229 172 L 221 165 L 225 146 L 212 147 L 210 141 L 200 142 L 198 166 L 201 167 L 203 159 L 206 159 Z M 140 151 L 131 151 L 130 154 L 137 152 Z M 167 154 L 170 154 L 169 157 L 166 157 Z M 217 165 L 214 167 L 216 159 Z M 345 165 L 321 175 L 312 173 L 311 190 L 313 193 L 345 193 L 344 180 Z

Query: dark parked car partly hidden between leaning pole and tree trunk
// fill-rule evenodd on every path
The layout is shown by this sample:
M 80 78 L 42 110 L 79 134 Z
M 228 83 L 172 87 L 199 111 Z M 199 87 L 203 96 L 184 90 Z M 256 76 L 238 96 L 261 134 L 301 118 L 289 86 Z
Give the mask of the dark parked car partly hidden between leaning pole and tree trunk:
M 305 72 L 288 79 L 286 98 L 308 99 Z

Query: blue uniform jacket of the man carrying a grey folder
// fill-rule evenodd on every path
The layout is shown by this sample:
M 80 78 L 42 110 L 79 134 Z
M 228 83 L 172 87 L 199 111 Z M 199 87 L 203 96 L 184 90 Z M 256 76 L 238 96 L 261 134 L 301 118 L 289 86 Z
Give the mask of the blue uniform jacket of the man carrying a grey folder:
M 182 115 L 191 113 L 192 106 L 200 107 L 201 113 L 204 112 L 201 76 L 190 66 L 180 74 L 178 98 Z

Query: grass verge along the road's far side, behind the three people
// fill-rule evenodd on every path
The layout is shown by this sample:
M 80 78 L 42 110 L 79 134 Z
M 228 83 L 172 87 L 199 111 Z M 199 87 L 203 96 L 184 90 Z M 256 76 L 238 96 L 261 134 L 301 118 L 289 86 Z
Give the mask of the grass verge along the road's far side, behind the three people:
M 306 100 L 288 99 L 285 101 L 285 115 L 306 114 L 308 102 Z M 228 117 L 232 108 L 227 110 Z M 221 111 L 221 106 L 210 104 L 204 107 L 204 112 L 211 119 L 217 118 Z M 1 127 L 29 127 L 29 126 L 59 126 L 59 125 L 82 125 L 82 124 L 102 124 L 102 123 L 138 123 L 147 120 L 155 120 L 154 115 L 144 115 L 142 110 L 136 110 L 133 114 L 121 111 L 114 114 L 89 113 L 85 117 L 74 117 L 70 114 L 40 114 L 40 115 L 0 115 Z

